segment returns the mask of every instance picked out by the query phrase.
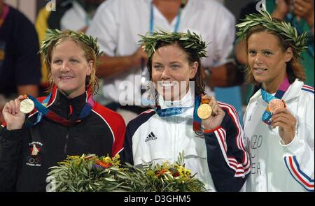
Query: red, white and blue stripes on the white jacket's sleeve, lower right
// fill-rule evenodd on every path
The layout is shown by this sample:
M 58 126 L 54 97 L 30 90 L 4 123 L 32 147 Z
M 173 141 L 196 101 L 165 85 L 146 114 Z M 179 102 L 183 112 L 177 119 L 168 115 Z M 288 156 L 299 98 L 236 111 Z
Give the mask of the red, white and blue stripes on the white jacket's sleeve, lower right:
M 284 163 L 286 163 L 286 168 L 288 168 L 290 175 L 298 182 L 300 183 L 304 189 L 307 191 L 313 191 L 314 192 L 314 179 L 311 179 L 311 177 L 307 176 L 300 170 L 300 165 L 297 163 L 295 156 L 285 156 Z

